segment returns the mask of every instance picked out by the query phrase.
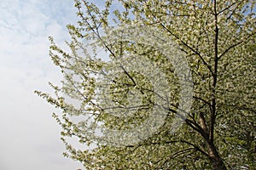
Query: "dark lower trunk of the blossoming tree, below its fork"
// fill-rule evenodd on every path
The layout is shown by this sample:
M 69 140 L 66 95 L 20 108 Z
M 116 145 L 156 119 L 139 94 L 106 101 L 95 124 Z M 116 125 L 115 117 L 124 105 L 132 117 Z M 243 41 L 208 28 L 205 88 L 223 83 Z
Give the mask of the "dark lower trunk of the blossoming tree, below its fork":
M 218 151 L 214 144 L 208 144 L 209 147 L 209 158 L 212 164 L 213 170 L 227 170 L 227 167 L 224 164 L 224 161 L 218 155 Z

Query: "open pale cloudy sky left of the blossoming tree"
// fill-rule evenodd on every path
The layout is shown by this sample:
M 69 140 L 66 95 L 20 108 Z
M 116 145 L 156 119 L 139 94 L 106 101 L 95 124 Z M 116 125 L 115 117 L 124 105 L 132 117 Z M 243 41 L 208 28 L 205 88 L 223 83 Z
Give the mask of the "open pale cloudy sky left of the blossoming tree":
M 48 37 L 68 40 L 75 13 L 73 0 L 0 0 L 0 170 L 83 169 L 62 156 L 54 108 L 33 93 L 61 81 Z

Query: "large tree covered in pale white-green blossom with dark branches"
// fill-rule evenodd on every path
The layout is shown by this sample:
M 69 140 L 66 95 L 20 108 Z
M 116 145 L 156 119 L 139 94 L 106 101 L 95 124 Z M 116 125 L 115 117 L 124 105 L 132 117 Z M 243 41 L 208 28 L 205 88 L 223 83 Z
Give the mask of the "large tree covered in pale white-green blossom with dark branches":
M 100 9 L 76 0 L 70 52 L 49 38 L 62 87 L 36 91 L 62 111 L 54 117 L 65 156 L 88 169 L 255 167 L 254 5 L 106 0 Z M 94 147 L 76 150 L 74 136 Z

